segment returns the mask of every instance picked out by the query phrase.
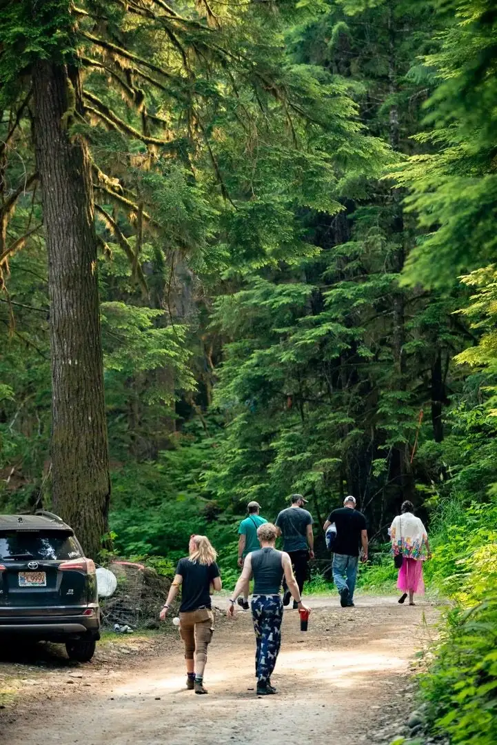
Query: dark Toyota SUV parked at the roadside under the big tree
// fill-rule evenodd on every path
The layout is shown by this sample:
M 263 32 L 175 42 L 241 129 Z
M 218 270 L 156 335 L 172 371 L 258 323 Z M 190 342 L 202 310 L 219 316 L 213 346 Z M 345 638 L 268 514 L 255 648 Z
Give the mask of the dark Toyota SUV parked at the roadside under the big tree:
M 94 562 L 51 513 L 0 515 L 0 638 L 20 635 L 65 642 L 79 662 L 100 638 Z

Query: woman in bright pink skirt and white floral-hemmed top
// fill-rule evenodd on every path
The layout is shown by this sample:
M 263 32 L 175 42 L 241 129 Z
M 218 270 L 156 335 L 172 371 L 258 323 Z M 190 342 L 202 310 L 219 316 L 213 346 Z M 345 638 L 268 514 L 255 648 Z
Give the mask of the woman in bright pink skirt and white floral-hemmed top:
M 409 605 L 414 605 L 414 593 L 423 595 L 423 562 L 432 558 L 428 542 L 428 534 L 423 522 L 414 515 L 414 504 L 405 501 L 400 508 L 400 515 L 394 519 L 390 530 L 393 556 L 403 557 L 399 569 L 397 588 L 403 595 L 399 603 L 404 603 L 409 595 Z

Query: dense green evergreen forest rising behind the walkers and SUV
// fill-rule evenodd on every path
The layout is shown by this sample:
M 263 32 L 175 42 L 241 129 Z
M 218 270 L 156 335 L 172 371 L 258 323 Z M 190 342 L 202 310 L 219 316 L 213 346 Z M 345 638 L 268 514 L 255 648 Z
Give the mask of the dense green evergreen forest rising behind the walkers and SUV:
M 205 533 L 229 586 L 250 500 L 326 559 L 352 494 L 375 586 L 411 499 L 434 727 L 495 743 L 496 5 L 0 13 L 0 510 L 165 574 Z

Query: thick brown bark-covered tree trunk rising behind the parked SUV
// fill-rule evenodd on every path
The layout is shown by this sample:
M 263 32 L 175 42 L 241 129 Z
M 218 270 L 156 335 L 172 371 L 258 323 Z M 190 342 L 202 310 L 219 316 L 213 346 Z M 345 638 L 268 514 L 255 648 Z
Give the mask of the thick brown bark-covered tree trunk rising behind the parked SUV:
M 40 60 L 33 89 L 48 248 L 53 506 L 95 557 L 107 531 L 110 481 L 90 162 L 66 121 L 74 100 L 76 110 L 81 103 L 79 74 Z

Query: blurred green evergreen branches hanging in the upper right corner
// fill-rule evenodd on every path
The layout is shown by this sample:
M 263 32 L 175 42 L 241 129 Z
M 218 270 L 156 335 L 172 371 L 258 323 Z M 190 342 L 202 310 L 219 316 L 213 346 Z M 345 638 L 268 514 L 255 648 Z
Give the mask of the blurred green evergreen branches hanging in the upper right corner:
M 438 4 L 443 9 L 443 1 Z M 410 191 L 408 208 L 426 233 L 408 258 L 405 276 L 429 286 L 452 285 L 455 275 L 490 263 L 496 247 L 495 7 L 491 0 L 459 0 L 449 7 L 457 22 L 425 60 L 438 85 L 426 104 L 432 130 L 418 139 L 435 152 L 412 156 L 397 172 L 398 183 Z

